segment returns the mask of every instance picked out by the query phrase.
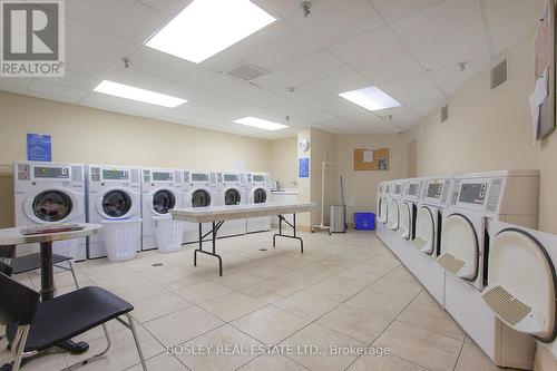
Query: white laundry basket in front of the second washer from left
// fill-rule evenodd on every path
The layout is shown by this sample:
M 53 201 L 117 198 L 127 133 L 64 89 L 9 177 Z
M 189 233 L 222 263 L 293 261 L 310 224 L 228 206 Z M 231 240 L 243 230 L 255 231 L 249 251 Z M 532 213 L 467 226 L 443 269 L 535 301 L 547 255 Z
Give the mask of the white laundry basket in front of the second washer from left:
M 141 219 L 100 221 L 107 257 L 110 262 L 136 257 L 141 248 Z

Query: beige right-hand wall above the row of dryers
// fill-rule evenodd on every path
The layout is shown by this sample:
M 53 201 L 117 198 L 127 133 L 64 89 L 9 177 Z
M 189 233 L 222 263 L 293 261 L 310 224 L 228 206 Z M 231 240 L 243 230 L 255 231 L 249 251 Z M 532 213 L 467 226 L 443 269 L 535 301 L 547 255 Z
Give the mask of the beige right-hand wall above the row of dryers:
M 508 81 L 490 90 L 489 68 L 405 134 L 418 141 L 418 175 L 494 169 L 540 169 L 539 230 L 557 234 L 557 137 L 534 144 L 528 96 L 534 89 L 534 31 L 506 53 Z M 502 58 L 505 56 L 500 56 Z

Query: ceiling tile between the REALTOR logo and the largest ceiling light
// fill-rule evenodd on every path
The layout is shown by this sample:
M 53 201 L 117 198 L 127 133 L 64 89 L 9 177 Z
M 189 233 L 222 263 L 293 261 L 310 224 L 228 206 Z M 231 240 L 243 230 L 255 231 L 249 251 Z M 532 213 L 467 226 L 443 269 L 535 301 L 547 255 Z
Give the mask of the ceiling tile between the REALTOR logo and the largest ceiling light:
M 137 42 L 123 39 L 87 25 L 66 20 L 67 49 L 95 56 L 111 62 L 121 61 L 136 47 Z

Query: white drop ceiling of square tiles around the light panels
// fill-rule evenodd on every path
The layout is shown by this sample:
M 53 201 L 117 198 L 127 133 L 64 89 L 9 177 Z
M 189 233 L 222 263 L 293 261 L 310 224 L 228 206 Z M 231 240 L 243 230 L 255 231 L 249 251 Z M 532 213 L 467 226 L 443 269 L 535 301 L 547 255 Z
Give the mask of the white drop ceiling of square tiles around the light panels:
M 0 78 L 0 90 L 268 139 L 306 126 L 400 133 L 530 31 L 543 7 L 543 0 L 314 0 L 305 18 L 299 0 L 252 1 L 277 21 L 198 65 L 143 45 L 190 0 L 67 1 L 66 77 Z M 243 62 L 268 72 L 251 82 L 226 74 Z M 170 109 L 92 91 L 104 79 L 188 102 Z M 338 96 L 372 85 L 402 107 L 370 113 Z M 246 116 L 290 128 L 232 123 Z

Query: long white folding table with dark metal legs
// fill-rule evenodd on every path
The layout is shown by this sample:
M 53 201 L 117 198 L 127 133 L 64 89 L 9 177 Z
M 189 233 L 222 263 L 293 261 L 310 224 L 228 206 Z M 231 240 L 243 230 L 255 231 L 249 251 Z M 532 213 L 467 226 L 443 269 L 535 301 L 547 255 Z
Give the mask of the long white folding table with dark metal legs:
M 244 219 L 250 217 L 277 215 L 278 216 L 278 233 L 273 235 L 273 247 L 276 245 L 276 237 L 294 238 L 300 241 L 300 250 L 304 252 L 304 242 L 296 235 L 296 214 L 307 213 L 314 209 L 315 203 L 305 204 L 283 204 L 283 203 L 265 203 L 265 204 L 245 204 L 245 205 L 226 205 L 226 206 L 208 206 L 208 207 L 186 207 L 175 208 L 170 211 L 174 219 L 197 223 L 199 225 L 199 247 L 194 251 L 194 266 L 197 265 L 197 253 L 206 254 L 218 258 L 218 274 L 223 275 L 223 260 L 216 253 L 216 235 L 218 230 L 226 221 Z M 290 223 L 284 215 L 292 214 L 293 221 Z M 282 223 L 286 223 L 293 228 L 293 234 L 283 234 Z M 206 234 L 203 234 L 202 224 L 212 223 L 212 228 Z M 212 235 L 213 251 L 203 250 L 205 237 Z

